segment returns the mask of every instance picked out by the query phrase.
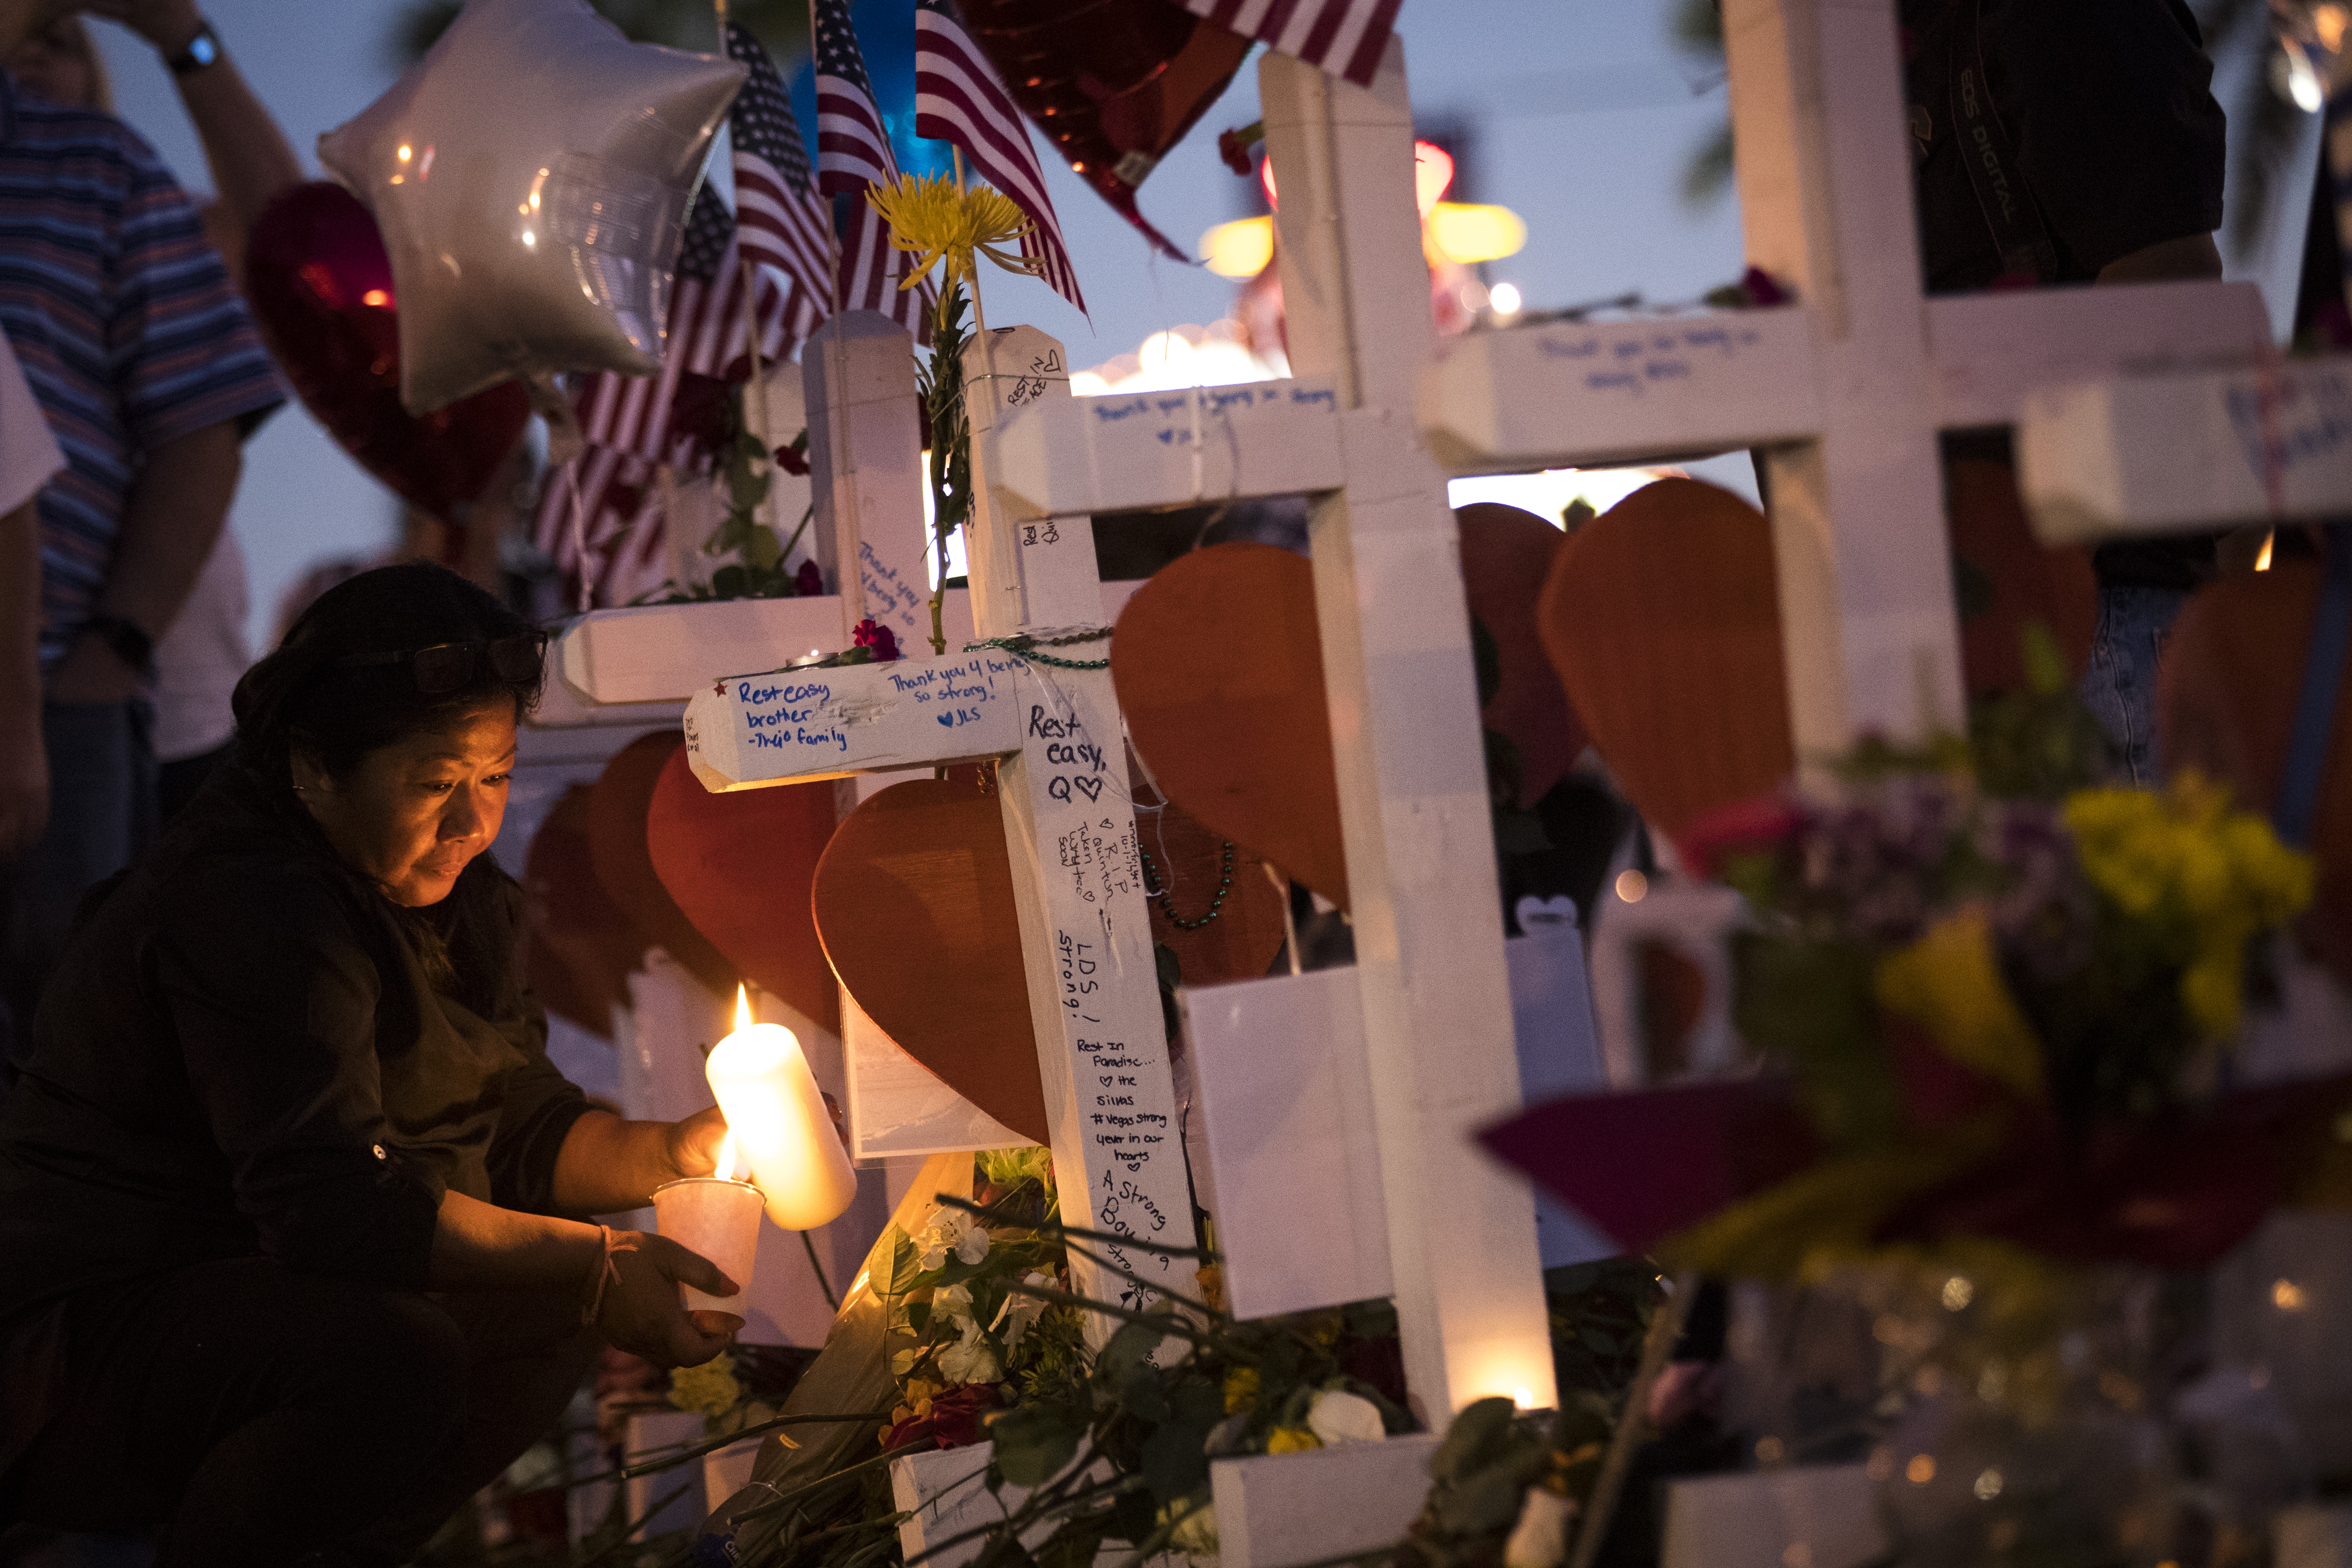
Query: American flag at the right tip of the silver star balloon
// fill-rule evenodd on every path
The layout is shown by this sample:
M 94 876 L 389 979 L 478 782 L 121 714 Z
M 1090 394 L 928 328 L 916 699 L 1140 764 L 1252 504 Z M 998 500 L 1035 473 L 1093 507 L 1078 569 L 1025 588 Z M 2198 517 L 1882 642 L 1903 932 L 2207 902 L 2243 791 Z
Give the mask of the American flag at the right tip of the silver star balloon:
M 776 61 L 734 21 L 727 24 L 727 56 L 750 68 L 727 113 L 736 240 L 746 256 L 790 282 L 786 339 L 797 346 L 816 322 L 833 315 L 833 202 L 814 190 L 800 120 L 793 118 Z

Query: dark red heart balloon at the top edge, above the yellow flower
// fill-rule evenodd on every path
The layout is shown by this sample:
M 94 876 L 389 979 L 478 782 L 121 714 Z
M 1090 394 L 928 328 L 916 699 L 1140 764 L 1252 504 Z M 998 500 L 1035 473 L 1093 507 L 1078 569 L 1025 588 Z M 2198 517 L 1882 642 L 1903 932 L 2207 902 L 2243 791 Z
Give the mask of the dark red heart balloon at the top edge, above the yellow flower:
M 1136 186 L 1242 68 L 1249 40 L 1171 0 L 964 0 L 971 42 L 1080 179 L 1176 261 Z

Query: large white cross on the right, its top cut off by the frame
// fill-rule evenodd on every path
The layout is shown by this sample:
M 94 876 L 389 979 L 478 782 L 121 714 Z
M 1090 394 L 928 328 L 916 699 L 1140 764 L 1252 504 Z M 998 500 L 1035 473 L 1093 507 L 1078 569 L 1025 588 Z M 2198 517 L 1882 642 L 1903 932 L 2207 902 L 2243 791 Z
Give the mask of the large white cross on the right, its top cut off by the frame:
M 1456 339 L 1423 423 L 1456 473 L 1764 447 L 1797 755 L 1957 726 L 1938 430 L 2267 317 L 2218 282 L 1924 299 L 1891 0 L 1724 0 L 1724 45 L 1748 259 L 1799 303 Z

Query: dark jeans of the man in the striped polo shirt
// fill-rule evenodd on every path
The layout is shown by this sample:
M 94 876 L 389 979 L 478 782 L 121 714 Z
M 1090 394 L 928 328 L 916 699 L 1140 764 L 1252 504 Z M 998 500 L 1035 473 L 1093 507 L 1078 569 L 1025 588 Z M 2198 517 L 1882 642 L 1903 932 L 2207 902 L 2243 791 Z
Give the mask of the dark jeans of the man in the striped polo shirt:
M 129 703 L 42 703 L 49 827 L 0 867 L 0 1098 L 33 1053 L 33 1009 L 66 950 L 73 910 L 94 882 L 155 837 L 155 710 Z

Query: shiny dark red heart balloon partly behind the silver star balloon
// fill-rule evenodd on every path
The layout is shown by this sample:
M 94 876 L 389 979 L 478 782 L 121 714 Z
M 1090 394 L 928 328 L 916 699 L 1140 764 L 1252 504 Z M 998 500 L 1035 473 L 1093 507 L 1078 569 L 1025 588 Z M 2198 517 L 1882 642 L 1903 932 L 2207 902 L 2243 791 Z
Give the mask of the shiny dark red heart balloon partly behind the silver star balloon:
M 508 381 L 416 418 L 400 407 L 393 261 L 341 186 L 294 186 L 254 219 L 245 294 L 278 367 L 360 468 L 445 522 L 489 484 L 532 416 Z

